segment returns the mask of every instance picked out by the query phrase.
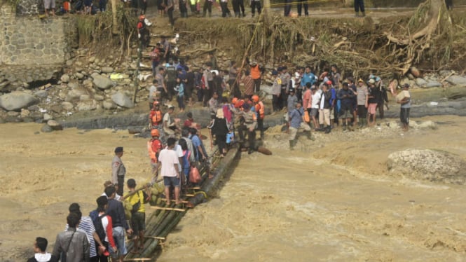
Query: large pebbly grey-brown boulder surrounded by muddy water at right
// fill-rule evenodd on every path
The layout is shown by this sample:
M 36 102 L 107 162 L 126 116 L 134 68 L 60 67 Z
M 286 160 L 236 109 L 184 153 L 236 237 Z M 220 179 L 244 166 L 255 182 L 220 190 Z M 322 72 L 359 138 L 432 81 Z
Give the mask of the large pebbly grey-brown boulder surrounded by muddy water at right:
M 466 184 L 466 161 L 445 151 L 407 149 L 391 153 L 388 170 L 413 179 Z

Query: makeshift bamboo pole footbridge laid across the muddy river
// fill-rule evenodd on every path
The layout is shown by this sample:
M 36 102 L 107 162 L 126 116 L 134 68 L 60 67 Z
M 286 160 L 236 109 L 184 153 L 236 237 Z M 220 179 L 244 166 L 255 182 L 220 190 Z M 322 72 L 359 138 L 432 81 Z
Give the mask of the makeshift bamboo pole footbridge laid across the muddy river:
M 200 186 L 188 188 L 191 193 L 181 195 L 182 204 L 174 205 L 173 202 L 166 205 L 165 200 L 159 199 L 158 205 L 151 206 L 156 211 L 146 219 L 144 249 L 139 250 L 138 254 L 131 253 L 133 242 L 128 242 L 128 254 L 125 256 L 124 261 L 156 261 L 163 250 L 165 237 L 177 226 L 189 206 L 196 207 L 214 193 L 219 182 L 228 176 L 235 165 L 238 164 L 239 152 L 238 147 L 233 147 L 226 153 L 224 158 L 214 158 L 211 166 L 211 173 L 214 175 L 212 179 L 208 179 L 205 170 L 200 170 L 203 177 L 203 180 L 198 183 Z

